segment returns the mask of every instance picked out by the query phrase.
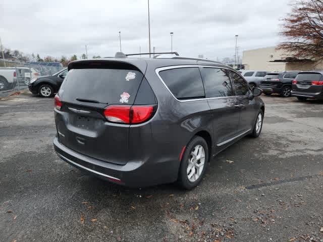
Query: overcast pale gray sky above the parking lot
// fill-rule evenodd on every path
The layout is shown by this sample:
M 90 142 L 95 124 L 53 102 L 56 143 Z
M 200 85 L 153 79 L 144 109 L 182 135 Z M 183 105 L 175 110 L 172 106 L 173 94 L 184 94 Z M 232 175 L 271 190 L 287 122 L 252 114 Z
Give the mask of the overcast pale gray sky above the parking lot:
M 182 56 L 233 57 L 276 45 L 280 18 L 289 0 L 150 0 L 151 51 L 173 50 Z M 113 56 L 119 51 L 148 51 L 147 0 L 34 1 L 0 3 L 0 36 L 5 47 L 41 57 L 77 54 Z

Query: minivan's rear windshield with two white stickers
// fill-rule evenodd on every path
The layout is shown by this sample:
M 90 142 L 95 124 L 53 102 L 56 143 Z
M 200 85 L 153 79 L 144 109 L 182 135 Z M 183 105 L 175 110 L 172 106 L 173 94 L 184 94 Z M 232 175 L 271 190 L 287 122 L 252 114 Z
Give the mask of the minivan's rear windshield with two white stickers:
M 61 86 L 60 97 L 65 102 L 80 98 L 133 104 L 142 78 L 142 73 L 134 70 L 72 69 Z

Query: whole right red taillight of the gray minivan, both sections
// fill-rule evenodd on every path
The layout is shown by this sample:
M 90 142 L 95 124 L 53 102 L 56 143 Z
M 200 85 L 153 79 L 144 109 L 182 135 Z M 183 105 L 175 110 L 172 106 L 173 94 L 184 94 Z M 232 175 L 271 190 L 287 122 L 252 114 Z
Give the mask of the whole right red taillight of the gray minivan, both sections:
M 110 105 L 104 110 L 107 120 L 114 123 L 139 124 L 148 120 L 153 113 L 150 105 Z

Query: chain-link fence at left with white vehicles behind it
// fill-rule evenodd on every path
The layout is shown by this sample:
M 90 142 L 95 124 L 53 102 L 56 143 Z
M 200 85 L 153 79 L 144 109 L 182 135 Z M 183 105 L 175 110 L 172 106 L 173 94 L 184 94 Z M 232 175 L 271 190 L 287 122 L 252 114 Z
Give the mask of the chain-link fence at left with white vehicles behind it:
M 28 90 L 31 79 L 51 76 L 63 69 L 58 62 L 20 62 L 0 60 L 0 98 Z

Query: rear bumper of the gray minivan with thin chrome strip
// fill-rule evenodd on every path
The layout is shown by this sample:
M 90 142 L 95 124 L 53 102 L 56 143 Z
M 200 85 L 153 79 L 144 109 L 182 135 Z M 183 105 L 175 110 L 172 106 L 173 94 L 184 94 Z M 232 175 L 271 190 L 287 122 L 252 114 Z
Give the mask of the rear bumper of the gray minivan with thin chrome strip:
M 61 144 L 57 137 L 53 145 L 58 156 L 67 163 L 99 178 L 127 187 L 148 187 L 177 180 L 179 161 L 161 158 L 129 161 L 116 165 L 75 152 Z

